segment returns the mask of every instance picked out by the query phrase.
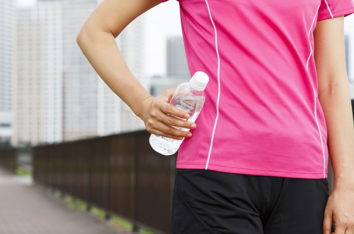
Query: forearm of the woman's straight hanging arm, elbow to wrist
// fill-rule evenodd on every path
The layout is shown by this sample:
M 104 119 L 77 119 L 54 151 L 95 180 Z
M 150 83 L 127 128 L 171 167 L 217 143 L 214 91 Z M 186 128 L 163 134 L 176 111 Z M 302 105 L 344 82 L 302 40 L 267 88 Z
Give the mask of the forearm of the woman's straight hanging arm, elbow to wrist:
M 328 130 L 334 186 L 354 184 L 354 124 L 348 82 L 333 84 L 318 99 Z

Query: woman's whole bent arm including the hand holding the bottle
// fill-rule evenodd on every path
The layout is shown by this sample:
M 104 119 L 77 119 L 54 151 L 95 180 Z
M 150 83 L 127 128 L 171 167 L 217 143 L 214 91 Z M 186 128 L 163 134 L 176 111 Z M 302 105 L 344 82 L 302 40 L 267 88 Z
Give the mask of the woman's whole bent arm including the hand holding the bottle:
M 181 139 L 190 132 L 171 125 L 195 127 L 193 122 L 169 115 L 189 118 L 168 103 L 174 89 L 152 97 L 130 72 L 115 41 L 132 20 L 159 3 L 161 0 L 104 0 L 88 17 L 76 42 L 102 80 L 144 121 L 148 132 Z

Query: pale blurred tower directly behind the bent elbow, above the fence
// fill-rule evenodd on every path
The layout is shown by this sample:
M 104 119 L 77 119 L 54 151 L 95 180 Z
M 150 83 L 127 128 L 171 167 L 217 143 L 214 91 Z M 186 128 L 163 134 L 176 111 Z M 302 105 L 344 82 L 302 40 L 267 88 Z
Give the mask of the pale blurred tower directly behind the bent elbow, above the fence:
M 41 0 L 44 1 L 44 0 Z M 76 43 L 97 0 L 63 2 L 63 139 L 97 135 L 98 77 Z

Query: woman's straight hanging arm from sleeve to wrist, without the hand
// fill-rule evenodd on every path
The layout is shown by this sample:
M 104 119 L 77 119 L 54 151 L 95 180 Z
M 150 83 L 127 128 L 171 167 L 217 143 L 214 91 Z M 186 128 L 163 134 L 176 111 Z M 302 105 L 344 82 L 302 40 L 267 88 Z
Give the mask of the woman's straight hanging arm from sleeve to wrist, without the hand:
M 317 22 L 314 57 L 318 99 L 324 111 L 335 186 L 354 184 L 354 124 L 345 66 L 344 20 Z

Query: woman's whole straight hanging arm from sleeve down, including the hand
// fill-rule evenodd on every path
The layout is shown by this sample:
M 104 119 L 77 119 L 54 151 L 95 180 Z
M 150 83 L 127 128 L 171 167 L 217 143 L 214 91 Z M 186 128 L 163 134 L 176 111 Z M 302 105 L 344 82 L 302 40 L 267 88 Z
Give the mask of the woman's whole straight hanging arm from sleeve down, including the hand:
M 318 77 L 318 99 L 328 130 L 328 146 L 334 172 L 334 188 L 326 203 L 323 233 L 352 233 L 354 230 L 354 123 L 345 66 L 344 18 L 317 22 L 314 57 Z

